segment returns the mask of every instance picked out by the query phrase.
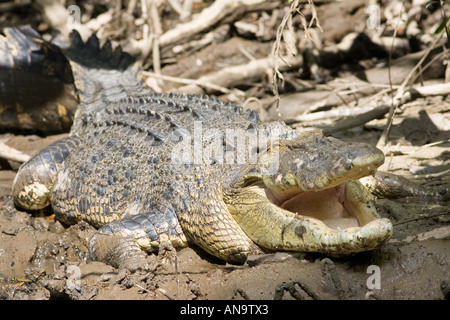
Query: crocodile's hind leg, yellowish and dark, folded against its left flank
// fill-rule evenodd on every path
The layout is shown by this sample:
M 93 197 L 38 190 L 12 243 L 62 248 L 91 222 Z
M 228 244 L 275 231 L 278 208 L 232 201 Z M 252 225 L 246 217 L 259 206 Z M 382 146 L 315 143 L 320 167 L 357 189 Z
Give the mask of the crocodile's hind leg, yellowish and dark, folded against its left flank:
M 58 140 L 25 162 L 14 179 L 14 203 L 25 210 L 48 206 L 59 168 L 80 141 L 75 136 Z

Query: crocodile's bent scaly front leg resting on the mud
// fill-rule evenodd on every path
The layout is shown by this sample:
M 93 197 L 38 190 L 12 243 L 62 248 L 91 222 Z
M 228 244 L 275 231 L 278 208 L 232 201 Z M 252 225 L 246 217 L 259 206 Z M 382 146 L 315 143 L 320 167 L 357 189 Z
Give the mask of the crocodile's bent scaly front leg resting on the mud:
M 193 242 L 233 263 L 245 262 L 248 254 L 261 252 L 224 204 L 197 204 L 192 210 L 187 209 L 177 218 L 171 204 L 165 202 L 148 212 L 110 222 L 92 238 L 90 259 L 131 271 L 146 269 L 143 252 L 158 251 L 164 242 L 176 249 Z

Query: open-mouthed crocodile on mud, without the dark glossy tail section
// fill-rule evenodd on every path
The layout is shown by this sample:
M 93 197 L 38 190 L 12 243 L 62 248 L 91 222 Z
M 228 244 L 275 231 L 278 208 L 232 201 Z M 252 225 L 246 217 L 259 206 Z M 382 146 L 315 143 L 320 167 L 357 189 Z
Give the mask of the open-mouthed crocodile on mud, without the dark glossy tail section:
M 46 43 L 31 31 L 27 41 Z M 16 206 L 51 206 L 64 224 L 98 229 L 91 260 L 146 268 L 163 244 L 196 245 L 230 263 L 271 251 L 348 255 L 392 236 L 359 179 L 384 154 L 205 95 L 155 93 L 107 41 L 73 32 L 60 52 L 79 106 L 68 137 L 24 163 Z

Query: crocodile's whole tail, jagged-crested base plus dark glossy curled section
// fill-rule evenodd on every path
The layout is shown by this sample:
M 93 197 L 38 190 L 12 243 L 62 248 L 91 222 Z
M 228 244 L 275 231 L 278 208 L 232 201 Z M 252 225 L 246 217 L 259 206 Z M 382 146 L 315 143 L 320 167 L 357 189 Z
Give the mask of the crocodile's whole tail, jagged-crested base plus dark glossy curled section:
M 73 122 L 80 125 L 77 110 L 95 112 L 105 100 L 136 96 L 143 89 L 135 59 L 110 41 L 100 46 L 95 34 L 86 42 L 76 31 L 69 42 L 62 37 L 48 42 L 28 26 L 5 28 L 4 34 L 1 129 L 67 132 Z

